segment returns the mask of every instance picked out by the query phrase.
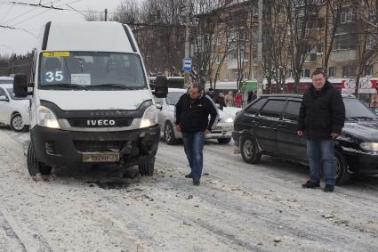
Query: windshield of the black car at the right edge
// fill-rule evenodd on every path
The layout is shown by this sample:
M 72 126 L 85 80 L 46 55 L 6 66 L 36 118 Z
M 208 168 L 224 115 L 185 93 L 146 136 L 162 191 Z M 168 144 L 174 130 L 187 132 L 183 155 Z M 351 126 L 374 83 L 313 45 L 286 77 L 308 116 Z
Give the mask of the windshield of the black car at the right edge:
M 357 118 L 357 119 L 371 119 L 378 117 L 369 110 L 362 102 L 359 102 L 354 98 L 344 98 L 345 104 L 345 116 L 346 118 Z

